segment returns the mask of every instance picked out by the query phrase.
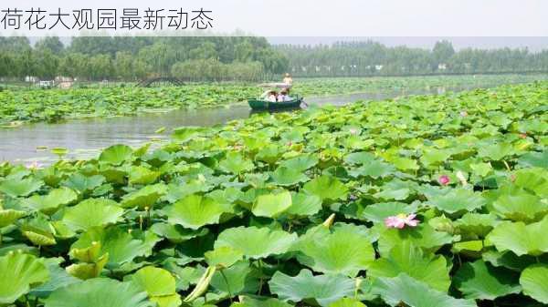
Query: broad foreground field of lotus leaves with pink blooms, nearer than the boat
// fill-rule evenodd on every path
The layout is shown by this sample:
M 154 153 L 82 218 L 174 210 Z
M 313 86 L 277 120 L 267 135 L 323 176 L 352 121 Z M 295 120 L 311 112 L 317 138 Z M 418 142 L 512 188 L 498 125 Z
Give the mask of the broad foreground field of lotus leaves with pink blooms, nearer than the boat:
M 548 82 L 0 166 L 0 305 L 548 304 Z

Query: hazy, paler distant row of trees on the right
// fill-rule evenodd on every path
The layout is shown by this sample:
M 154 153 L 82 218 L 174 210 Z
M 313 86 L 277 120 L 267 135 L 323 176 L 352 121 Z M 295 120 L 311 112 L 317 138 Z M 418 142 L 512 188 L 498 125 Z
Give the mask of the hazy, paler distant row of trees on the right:
M 433 74 L 490 74 L 548 71 L 548 50 L 473 49 L 455 51 L 448 41 L 432 50 L 388 47 L 366 42 L 341 42 L 331 46 L 280 45 L 297 77 L 410 76 Z

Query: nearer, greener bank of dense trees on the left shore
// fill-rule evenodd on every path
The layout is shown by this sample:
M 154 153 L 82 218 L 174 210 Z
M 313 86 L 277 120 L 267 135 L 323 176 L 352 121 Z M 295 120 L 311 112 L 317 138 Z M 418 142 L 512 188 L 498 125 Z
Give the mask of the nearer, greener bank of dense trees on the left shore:
M 284 73 L 289 60 L 263 37 L 74 37 L 65 46 L 45 37 L 0 36 L 0 77 L 23 80 L 259 80 Z

